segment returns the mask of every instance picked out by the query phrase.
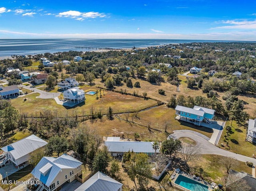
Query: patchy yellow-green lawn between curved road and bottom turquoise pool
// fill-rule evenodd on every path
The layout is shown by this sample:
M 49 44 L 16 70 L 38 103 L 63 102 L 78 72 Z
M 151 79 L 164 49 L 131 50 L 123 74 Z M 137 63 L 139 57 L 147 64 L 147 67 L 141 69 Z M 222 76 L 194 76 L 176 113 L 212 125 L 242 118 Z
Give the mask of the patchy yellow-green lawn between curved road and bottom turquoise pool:
M 202 176 L 204 179 L 225 185 L 226 168 L 221 162 L 222 158 L 225 157 L 212 154 L 199 156 L 196 161 L 196 172 L 200 174 L 199 168 L 201 167 L 203 169 Z M 193 165 L 195 165 L 195 161 L 190 163 L 194 163 Z M 239 172 L 244 171 L 252 174 L 252 168 L 248 167 L 246 163 L 241 161 L 238 161 L 238 165 L 233 169 Z

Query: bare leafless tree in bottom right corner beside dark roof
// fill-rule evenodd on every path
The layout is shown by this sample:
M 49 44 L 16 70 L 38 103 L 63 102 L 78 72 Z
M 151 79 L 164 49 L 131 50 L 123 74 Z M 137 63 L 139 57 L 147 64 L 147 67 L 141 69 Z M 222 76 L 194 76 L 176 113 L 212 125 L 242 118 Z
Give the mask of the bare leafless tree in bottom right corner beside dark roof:
M 248 185 L 248 182 L 244 179 L 241 179 L 239 175 L 229 174 L 227 183 L 226 183 L 227 191 L 250 191 L 251 187 Z

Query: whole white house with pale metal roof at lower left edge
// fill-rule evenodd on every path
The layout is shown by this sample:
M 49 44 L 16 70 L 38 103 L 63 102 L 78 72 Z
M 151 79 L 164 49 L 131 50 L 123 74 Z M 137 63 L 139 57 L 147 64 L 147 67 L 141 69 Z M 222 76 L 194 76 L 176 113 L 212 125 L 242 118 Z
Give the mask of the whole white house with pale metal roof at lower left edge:
M 26 161 L 28 161 L 29 154 L 31 152 L 45 146 L 46 144 L 47 142 L 39 137 L 30 135 L 1 149 L 7 153 L 10 161 L 19 169 L 20 165 L 23 165 Z

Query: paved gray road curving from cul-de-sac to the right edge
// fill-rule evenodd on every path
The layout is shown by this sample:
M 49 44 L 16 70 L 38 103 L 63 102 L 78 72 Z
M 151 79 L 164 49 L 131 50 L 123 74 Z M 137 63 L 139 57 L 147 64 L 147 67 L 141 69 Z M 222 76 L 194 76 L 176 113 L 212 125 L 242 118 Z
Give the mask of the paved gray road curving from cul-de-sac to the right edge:
M 256 165 L 256 159 L 218 148 L 213 144 L 211 144 L 210 142 L 208 142 L 208 140 L 204 139 L 203 138 L 204 136 L 199 136 L 198 132 L 194 132 L 191 130 L 175 130 L 173 132 L 174 133 L 168 136 L 168 138 L 169 137 L 172 137 L 175 139 L 178 139 L 181 137 L 191 138 L 194 141 L 196 141 L 196 144 L 197 144 L 196 147 L 200 148 L 199 150 L 200 154 L 216 154 L 221 156 L 234 157 L 239 161 L 243 161 L 243 162 L 250 161 L 254 163 L 254 165 Z

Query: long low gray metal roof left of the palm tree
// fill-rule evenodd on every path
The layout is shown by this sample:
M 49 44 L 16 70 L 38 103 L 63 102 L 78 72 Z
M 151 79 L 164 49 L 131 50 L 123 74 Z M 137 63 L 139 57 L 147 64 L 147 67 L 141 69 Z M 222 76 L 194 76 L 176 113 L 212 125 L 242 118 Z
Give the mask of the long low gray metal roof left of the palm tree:
M 136 142 L 136 141 L 106 141 L 105 145 L 109 152 L 128 152 L 129 150 L 138 153 L 154 153 L 154 142 Z M 156 150 L 159 153 L 159 150 Z

